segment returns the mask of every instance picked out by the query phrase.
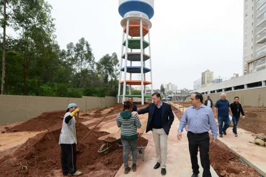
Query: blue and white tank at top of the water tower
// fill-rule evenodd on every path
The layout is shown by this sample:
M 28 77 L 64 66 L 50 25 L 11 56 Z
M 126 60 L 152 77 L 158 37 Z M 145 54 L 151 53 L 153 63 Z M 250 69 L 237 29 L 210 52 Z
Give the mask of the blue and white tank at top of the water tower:
M 154 0 L 120 0 L 118 11 L 123 18 L 126 13 L 137 11 L 151 19 L 154 16 Z

